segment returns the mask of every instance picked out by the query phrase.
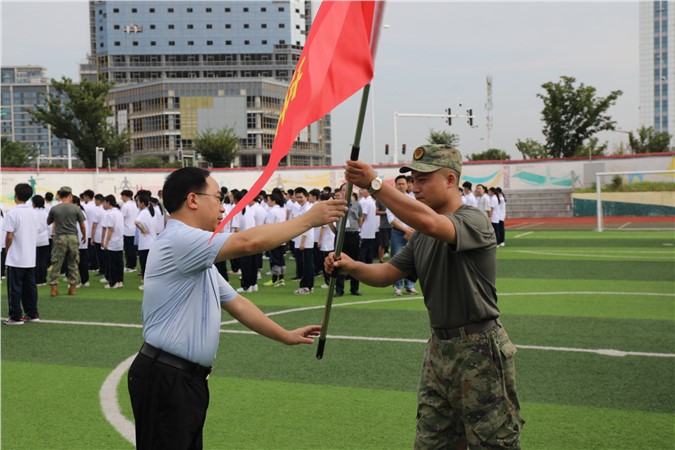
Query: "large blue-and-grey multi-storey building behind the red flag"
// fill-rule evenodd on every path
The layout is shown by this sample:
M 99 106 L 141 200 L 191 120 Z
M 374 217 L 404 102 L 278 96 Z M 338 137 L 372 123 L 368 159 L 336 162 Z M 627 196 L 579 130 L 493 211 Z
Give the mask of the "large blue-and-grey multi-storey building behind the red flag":
M 91 57 L 114 82 L 109 104 L 131 156 L 173 160 L 206 129 L 234 128 L 240 165 L 269 159 L 311 2 L 90 1 Z M 330 119 L 303 131 L 285 161 L 331 163 Z

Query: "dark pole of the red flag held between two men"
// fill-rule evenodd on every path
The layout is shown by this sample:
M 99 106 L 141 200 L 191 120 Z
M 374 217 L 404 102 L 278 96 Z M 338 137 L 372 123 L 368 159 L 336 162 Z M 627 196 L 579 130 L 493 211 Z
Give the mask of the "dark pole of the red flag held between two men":
M 366 84 L 363 87 L 361 93 L 361 109 L 359 110 L 359 118 L 356 123 L 356 133 L 354 134 L 354 145 L 352 145 L 352 152 L 349 156 L 349 159 L 356 161 L 359 159 L 359 150 L 361 146 L 361 133 L 363 132 L 363 122 L 366 117 L 366 107 L 368 106 L 368 96 L 370 94 L 370 83 Z M 344 200 L 347 200 L 347 204 L 351 204 L 352 198 L 352 188 L 353 185 L 351 182 L 347 182 L 347 193 Z M 349 215 L 349 211 L 347 211 Z M 347 215 L 340 220 L 340 229 L 338 230 L 337 239 L 335 241 L 335 259 L 340 259 L 342 254 L 342 245 L 344 244 L 345 239 L 345 228 L 347 226 Z M 333 270 L 333 274 L 330 278 L 330 286 L 328 287 L 328 294 L 326 296 L 326 307 L 323 312 L 323 323 L 321 324 L 321 335 L 319 336 L 319 347 L 316 349 L 316 359 L 323 358 L 323 351 L 326 347 L 326 335 L 328 334 L 328 321 L 330 320 L 330 311 L 333 306 L 333 293 L 335 292 L 335 285 L 338 279 L 339 269 Z

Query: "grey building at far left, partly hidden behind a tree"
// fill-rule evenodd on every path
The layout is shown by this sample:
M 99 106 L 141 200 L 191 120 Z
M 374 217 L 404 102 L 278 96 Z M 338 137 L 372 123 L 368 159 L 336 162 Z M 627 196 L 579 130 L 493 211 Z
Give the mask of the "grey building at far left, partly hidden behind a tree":
M 40 66 L 2 67 L 0 127 L 2 136 L 38 150 L 41 161 L 65 160 L 68 142 L 52 135 L 50 127 L 33 121 L 36 105 L 44 106 L 52 87 L 46 69 Z

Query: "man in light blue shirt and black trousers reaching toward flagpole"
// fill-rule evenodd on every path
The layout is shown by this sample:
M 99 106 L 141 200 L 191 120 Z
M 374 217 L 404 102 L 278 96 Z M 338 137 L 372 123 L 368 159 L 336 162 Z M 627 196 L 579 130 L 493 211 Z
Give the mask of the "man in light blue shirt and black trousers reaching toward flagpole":
M 321 327 L 286 330 L 235 292 L 214 263 L 277 247 L 344 215 L 346 202 L 322 202 L 296 219 L 212 238 L 224 207 L 206 170 L 173 172 L 163 187 L 171 214 L 152 243 L 145 272 L 143 338 L 129 369 L 136 445 L 202 448 L 209 402 L 207 378 L 218 350 L 221 306 L 251 330 L 287 345 L 311 344 Z

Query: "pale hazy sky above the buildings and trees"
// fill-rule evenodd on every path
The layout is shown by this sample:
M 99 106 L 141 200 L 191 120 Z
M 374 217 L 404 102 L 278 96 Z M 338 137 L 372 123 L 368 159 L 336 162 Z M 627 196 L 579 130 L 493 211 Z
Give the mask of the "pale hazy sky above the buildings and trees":
M 78 77 L 89 50 L 87 2 L 1 1 L 3 66 L 39 65 L 60 79 Z M 314 10 L 316 12 L 317 7 Z M 597 95 L 623 91 L 609 114 L 619 130 L 639 124 L 637 2 L 403 2 L 389 1 L 382 22 L 375 76 L 361 138 L 361 159 L 393 163 L 394 113 L 466 114 L 474 124 L 443 118 L 398 117 L 398 161 L 426 143 L 430 130 L 459 136 L 464 155 L 488 148 L 486 77 L 492 76 L 492 147 L 520 159 L 521 139 L 544 141 L 541 85 L 572 76 Z M 361 92 L 332 114 L 333 163 L 354 141 Z M 461 106 L 460 106 L 461 105 Z M 611 153 L 627 143 L 604 132 Z M 384 154 L 385 144 L 390 153 Z M 406 144 L 406 155 L 400 147 Z

